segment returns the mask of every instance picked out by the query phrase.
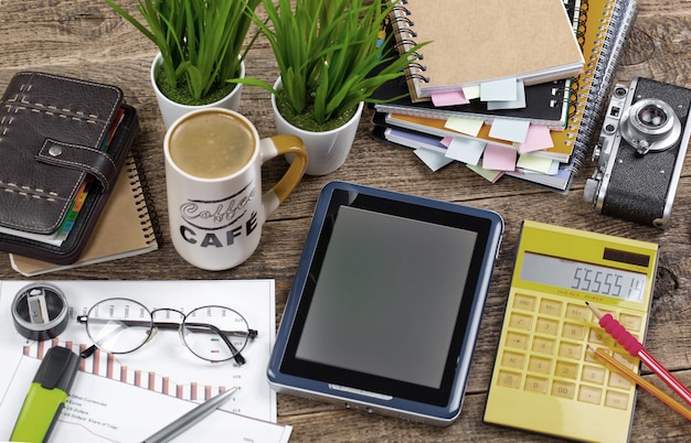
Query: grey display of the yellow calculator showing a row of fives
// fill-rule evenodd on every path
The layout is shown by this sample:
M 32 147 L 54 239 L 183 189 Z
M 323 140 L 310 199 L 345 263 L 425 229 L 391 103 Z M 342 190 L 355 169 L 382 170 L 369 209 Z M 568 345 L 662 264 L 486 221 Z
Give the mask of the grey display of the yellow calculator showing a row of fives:
M 632 302 L 642 302 L 647 280 L 645 273 L 532 252 L 523 255 L 520 278 Z

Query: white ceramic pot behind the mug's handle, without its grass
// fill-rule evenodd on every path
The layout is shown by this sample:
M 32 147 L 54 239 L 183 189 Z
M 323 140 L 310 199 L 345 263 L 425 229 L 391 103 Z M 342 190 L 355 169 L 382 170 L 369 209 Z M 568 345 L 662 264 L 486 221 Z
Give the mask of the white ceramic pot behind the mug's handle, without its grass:
M 280 78 L 274 84 L 274 89 L 280 88 Z M 346 163 L 350 148 L 358 132 L 358 125 L 362 116 L 364 102 L 360 102 L 355 115 L 340 128 L 323 132 L 306 131 L 289 123 L 278 112 L 276 97 L 272 95 L 272 107 L 274 108 L 274 119 L 278 133 L 288 133 L 302 139 L 307 148 L 307 170 L 308 175 L 326 175 Z

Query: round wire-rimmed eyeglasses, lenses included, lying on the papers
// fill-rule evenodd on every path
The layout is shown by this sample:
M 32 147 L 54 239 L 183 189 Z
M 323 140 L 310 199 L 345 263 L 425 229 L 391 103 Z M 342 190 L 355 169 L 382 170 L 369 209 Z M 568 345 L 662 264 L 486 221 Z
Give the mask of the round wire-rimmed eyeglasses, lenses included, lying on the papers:
M 245 364 L 241 352 L 248 339 L 257 336 L 247 321 L 230 307 L 201 306 L 184 314 L 173 309 L 149 311 L 129 299 L 107 299 L 96 303 L 86 315 L 77 316 L 86 325 L 94 346 L 82 353 L 88 357 L 95 347 L 111 354 L 127 354 L 139 349 L 157 329 L 176 329 L 182 343 L 199 358 L 225 361 L 233 358 Z

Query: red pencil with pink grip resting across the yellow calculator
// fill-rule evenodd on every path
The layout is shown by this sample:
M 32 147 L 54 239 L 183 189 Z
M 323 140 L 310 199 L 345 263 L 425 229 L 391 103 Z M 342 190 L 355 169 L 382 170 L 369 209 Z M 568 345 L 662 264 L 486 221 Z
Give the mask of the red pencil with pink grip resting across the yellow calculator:
M 681 383 L 673 375 L 670 374 L 665 366 L 655 359 L 644 347 L 644 345 L 631 335 L 624 326 L 617 322 L 612 314 L 603 313 L 597 307 L 591 305 L 588 302 L 585 304 L 593 311 L 593 314 L 598 318 L 599 325 L 609 334 L 614 339 L 624 346 L 624 348 L 631 355 L 631 357 L 638 357 L 648 368 L 650 368 L 667 386 L 669 386 L 679 397 L 683 399 L 688 404 L 691 404 L 691 391 Z

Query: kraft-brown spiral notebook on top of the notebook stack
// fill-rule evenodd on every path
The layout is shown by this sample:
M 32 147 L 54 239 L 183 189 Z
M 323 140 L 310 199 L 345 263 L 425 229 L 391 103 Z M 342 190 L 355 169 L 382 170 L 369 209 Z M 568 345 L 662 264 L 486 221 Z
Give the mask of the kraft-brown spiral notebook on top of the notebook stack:
M 408 67 L 414 100 L 517 78 L 525 85 L 583 71 L 562 0 L 407 0 L 395 8 L 400 45 L 432 42 Z

